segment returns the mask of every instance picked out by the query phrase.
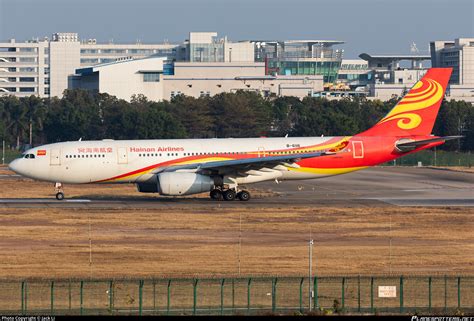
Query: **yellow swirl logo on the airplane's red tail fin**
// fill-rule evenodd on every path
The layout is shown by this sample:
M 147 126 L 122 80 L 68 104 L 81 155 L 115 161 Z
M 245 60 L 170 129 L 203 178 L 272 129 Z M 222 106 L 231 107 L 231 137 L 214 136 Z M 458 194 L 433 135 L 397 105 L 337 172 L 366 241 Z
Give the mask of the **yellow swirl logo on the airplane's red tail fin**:
M 443 86 L 436 80 L 423 78 L 418 81 L 403 97 L 403 99 L 385 116 L 379 124 L 398 120 L 397 126 L 400 129 L 413 129 L 418 127 L 422 118 L 414 111 L 425 109 L 435 105 L 443 98 Z

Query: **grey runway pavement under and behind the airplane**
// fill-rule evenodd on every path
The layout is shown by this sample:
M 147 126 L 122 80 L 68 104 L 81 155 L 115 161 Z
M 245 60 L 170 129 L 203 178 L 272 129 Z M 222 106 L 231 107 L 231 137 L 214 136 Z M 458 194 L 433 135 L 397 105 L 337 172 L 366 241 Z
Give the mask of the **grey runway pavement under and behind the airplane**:
M 417 167 L 375 167 L 324 179 L 264 182 L 249 187 L 273 195 L 249 202 L 216 202 L 207 197 L 81 197 L 0 199 L 3 207 L 163 208 L 281 207 L 281 206 L 471 206 L 474 173 Z M 67 194 L 66 194 L 67 197 Z

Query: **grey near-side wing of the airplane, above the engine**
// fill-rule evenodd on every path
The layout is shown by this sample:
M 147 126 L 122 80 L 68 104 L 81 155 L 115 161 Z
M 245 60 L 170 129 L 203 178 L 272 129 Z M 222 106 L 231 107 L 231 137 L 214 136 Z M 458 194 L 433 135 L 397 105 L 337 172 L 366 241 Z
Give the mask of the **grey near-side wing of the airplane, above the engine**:
M 314 152 L 314 153 L 300 153 L 300 154 L 289 154 L 289 155 L 277 155 L 277 156 L 265 156 L 265 157 L 252 157 L 243 159 L 231 159 L 223 161 L 212 161 L 203 163 L 183 164 L 183 165 L 171 165 L 167 167 L 158 168 L 154 173 L 164 172 L 176 172 L 176 171 L 195 171 L 195 172 L 229 172 L 229 171 L 242 171 L 251 169 L 261 169 L 265 167 L 275 167 L 277 165 L 285 165 L 290 167 L 297 166 L 296 162 L 312 157 L 321 157 L 327 155 L 333 155 L 335 152 Z

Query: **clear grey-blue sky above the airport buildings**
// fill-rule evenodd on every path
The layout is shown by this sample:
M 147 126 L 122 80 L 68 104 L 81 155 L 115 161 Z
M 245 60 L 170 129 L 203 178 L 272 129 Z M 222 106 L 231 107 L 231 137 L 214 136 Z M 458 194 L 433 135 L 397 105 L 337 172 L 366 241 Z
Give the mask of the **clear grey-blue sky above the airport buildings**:
M 474 37 L 474 0 L 0 0 L 0 40 L 77 32 L 98 42 L 341 40 L 345 58 L 407 54 L 414 42 Z

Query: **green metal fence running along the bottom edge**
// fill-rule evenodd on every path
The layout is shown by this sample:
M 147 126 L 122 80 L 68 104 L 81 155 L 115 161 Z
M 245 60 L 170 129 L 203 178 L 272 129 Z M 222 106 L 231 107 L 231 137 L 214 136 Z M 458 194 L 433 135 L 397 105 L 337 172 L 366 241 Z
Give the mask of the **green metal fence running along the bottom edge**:
M 0 280 L 0 314 L 473 312 L 474 276 Z

